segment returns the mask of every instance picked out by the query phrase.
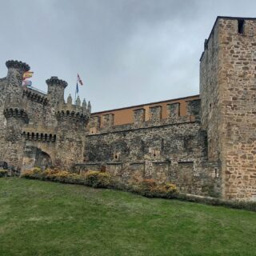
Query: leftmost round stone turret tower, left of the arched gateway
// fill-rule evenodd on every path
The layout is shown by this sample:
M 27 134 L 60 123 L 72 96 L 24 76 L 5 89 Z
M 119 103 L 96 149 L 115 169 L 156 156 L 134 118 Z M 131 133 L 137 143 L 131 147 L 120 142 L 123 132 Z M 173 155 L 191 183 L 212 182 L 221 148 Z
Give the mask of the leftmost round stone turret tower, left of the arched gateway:
M 22 101 L 22 76 L 30 70 L 30 66 L 18 61 L 8 61 L 6 66 L 8 73 L 2 79 L 0 96 L 0 141 L 4 149 L 1 150 L 1 158 L 10 162 L 14 169 L 19 169 L 24 150 L 22 127 L 29 121 Z

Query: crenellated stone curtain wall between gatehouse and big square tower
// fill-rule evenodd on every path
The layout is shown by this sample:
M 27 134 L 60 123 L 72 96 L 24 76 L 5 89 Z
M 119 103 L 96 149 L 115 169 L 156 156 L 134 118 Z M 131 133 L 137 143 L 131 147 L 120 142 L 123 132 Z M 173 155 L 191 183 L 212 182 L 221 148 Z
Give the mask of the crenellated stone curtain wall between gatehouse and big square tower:
M 147 122 L 143 109 L 134 110 L 130 125 L 113 126 L 113 115 L 106 116 L 102 126 L 92 122 L 97 133 L 86 136 L 85 163 L 76 169 L 106 170 L 122 182 L 153 178 L 174 182 L 182 192 L 218 195 L 218 162 L 207 162 L 206 133 L 198 122 L 200 101 L 187 102 L 187 110 L 186 116 L 179 116 L 174 103 L 165 119 L 155 106 Z

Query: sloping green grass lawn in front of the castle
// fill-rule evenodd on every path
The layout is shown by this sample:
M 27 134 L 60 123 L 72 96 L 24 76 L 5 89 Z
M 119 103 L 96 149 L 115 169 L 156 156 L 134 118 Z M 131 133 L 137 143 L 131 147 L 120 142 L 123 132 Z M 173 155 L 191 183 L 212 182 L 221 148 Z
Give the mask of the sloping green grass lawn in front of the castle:
M 256 213 L 0 178 L 0 255 L 256 255 Z

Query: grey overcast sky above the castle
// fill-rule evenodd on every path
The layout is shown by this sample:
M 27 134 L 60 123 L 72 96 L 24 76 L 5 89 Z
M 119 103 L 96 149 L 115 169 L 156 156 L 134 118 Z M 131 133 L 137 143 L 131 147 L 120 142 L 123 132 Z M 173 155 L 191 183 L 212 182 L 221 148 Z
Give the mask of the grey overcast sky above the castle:
M 203 42 L 218 15 L 255 17 L 256 1 L 0 0 L 0 77 L 17 59 L 68 82 L 92 110 L 198 94 Z

